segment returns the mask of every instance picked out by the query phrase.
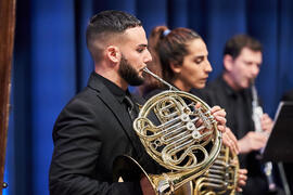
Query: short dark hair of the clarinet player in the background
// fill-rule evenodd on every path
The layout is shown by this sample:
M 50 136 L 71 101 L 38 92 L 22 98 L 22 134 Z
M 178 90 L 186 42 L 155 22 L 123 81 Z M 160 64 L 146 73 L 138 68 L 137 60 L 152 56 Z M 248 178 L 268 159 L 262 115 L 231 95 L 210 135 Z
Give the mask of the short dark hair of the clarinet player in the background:
M 237 35 L 226 42 L 224 55 L 228 54 L 231 55 L 232 58 L 237 58 L 243 48 L 263 52 L 263 46 L 258 40 L 247 35 Z

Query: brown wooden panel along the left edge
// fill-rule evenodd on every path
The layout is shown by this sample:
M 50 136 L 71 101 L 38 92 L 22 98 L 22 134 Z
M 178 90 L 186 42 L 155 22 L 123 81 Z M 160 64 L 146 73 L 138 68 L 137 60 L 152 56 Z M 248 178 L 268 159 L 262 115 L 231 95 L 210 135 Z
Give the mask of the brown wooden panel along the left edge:
M 0 0 L 0 194 L 2 194 L 5 164 L 11 63 L 15 28 L 15 1 Z

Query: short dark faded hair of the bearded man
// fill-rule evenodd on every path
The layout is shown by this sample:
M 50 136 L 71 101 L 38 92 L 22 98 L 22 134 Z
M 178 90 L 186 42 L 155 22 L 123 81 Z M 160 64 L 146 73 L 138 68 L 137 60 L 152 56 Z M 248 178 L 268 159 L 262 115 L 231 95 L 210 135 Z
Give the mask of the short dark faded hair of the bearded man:
M 100 60 L 101 48 L 94 47 L 95 41 L 106 41 L 113 34 L 123 34 L 128 28 L 142 26 L 133 15 L 116 10 L 107 10 L 93 15 L 87 26 L 87 47 L 94 61 Z

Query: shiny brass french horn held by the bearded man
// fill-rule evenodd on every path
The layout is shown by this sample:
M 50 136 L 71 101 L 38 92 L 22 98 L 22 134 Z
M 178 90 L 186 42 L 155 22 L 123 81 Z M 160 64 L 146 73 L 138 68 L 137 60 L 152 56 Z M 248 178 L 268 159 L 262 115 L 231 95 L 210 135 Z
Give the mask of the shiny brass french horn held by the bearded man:
M 146 173 L 143 165 L 131 157 L 124 159 L 130 158 L 142 170 L 156 195 L 174 194 L 182 185 L 202 176 L 216 160 L 221 147 L 221 133 L 204 101 L 176 89 L 148 68 L 143 70 L 167 84 L 169 90 L 144 103 L 133 121 L 133 129 L 149 156 L 167 171 L 161 174 Z M 200 107 L 195 107 L 198 103 L 201 103 Z M 125 160 L 116 161 L 122 162 L 114 164 L 114 168 L 123 167 L 122 164 L 129 166 L 129 162 L 123 162 Z M 125 181 L 125 178 L 130 177 L 122 178 Z M 184 194 L 192 193 L 193 190 Z

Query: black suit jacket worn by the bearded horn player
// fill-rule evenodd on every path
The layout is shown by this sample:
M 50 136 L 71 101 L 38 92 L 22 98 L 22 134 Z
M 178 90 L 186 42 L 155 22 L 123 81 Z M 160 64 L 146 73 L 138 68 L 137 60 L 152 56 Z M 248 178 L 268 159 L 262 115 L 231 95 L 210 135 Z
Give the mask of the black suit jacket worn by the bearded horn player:
M 153 166 L 135 134 L 126 108 L 95 73 L 61 112 L 53 141 L 51 195 L 137 195 L 141 193 L 139 181 L 112 181 L 114 159 L 126 154 L 140 164 Z

